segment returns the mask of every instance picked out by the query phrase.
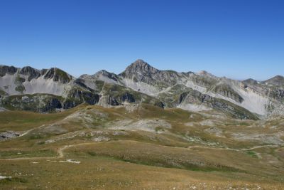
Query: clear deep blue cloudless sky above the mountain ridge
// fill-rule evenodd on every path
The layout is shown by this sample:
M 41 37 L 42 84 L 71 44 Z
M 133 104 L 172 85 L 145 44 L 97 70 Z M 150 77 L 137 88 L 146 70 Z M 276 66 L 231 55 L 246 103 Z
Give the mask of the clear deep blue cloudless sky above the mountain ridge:
M 282 0 L 0 0 L 0 64 L 121 73 L 159 69 L 235 79 L 284 75 Z

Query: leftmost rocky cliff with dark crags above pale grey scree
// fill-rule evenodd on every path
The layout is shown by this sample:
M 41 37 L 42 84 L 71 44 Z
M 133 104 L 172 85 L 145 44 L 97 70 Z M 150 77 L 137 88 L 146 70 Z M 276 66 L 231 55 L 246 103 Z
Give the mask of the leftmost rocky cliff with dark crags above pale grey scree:
M 65 95 L 74 78 L 58 68 L 0 67 L 0 90 L 8 95 L 46 93 Z

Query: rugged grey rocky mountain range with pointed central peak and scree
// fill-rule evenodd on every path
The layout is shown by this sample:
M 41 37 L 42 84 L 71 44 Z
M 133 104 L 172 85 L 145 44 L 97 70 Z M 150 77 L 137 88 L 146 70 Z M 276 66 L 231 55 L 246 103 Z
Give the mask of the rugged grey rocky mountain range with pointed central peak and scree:
M 143 102 L 258 120 L 283 115 L 284 78 L 232 80 L 206 71 L 158 70 L 143 60 L 131 63 L 120 74 L 100 70 L 79 78 L 59 68 L 0 65 L 2 109 L 57 112 L 82 102 L 104 107 Z

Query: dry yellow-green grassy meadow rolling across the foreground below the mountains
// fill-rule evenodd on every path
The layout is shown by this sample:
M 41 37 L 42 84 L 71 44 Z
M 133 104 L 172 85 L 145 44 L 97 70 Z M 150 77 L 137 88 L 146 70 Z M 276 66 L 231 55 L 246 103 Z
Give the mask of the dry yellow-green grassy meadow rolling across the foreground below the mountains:
M 124 120 L 171 127 L 159 134 L 109 128 Z M 0 142 L 0 176 L 11 176 L 0 179 L 0 189 L 284 189 L 281 122 L 151 105 L 133 112 L 91 105 L 51 115 L 0 112 L 1 131 L 31 130 Z

